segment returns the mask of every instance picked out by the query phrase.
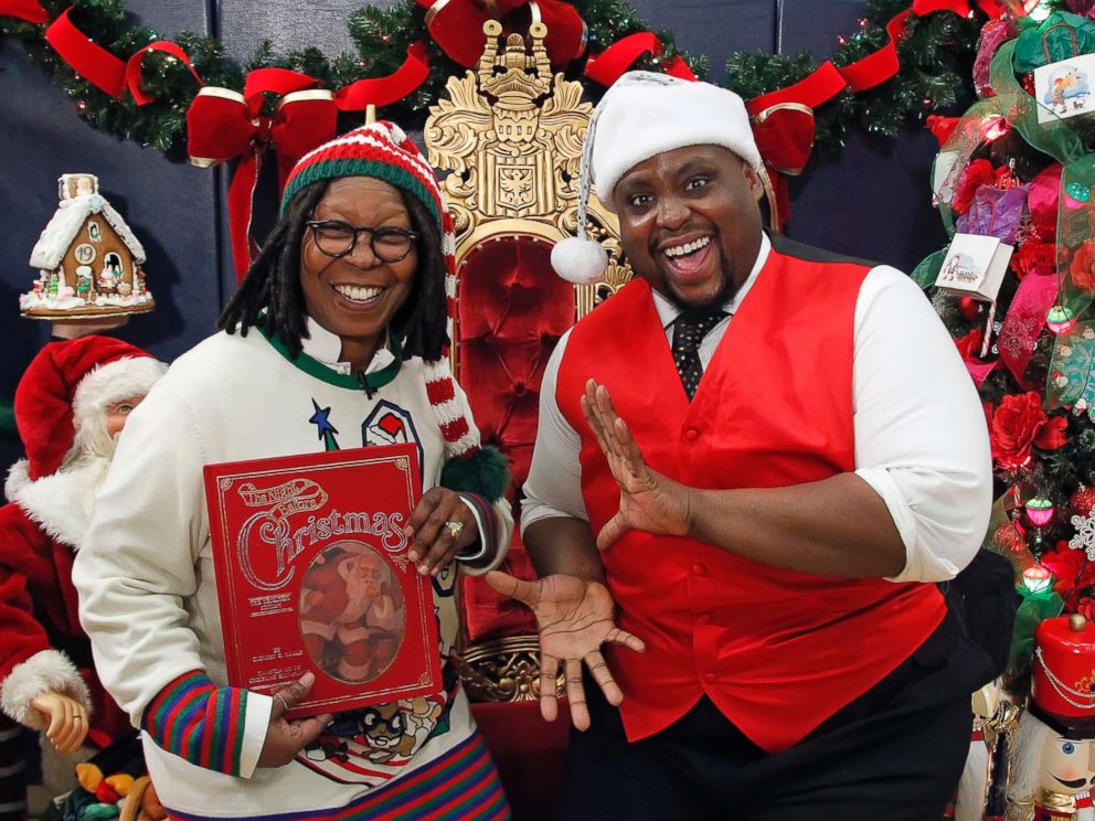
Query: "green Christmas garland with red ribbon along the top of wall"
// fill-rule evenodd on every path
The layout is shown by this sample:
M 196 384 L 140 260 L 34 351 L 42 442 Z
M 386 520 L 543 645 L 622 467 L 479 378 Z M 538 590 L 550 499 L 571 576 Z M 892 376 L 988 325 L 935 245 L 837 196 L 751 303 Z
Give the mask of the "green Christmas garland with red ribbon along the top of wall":
M 51 19 L 70 4 L 71 0 L 42 2 Z M 884 45 L 887 42 L 885 24 L 908 4 L 908 0 L 868 0 L 860 29 L 841 39 L 832 62 L 841 67 Z M 573 6 L 587 25 L 587 55 L 597 54 L 629 34 L 649 30 L 623 0 L 578 0 Z M 151 28 L 135 22 L 121 0 L 77 0 L 71 17 L 95 43 L 123 60 L 162 39 Z M 830 154 L 837 153 L 852 128 L 896 137 L 911 120 L 922 120 L 932 111 L 950 108 L 969 98 L 972 93 L 970 68 L 980 22 L 950 12 L 923 19 L 913 15 L 899 45 L 901 71 L 897 76 L 859 95 L 840 94 L 820 106 L 816 111 L 815 145 Z M 425 11 L 412 0 L 403 0 L 390 9 L 363 7 L 350 14 L 348 26 L 357 54 L 332 57 L 316 47 L 279 54 L 267 41 L 243 68 L 225 60 L 223 45 L 213 38 L 181 32 L 174 42 L 190 55 L 194 70 L 206 84 L 242 90 L 247 71 L 270 66 L 304 72 L 319 79 L 322 87 L 332 89 L 365 77 L 384 76 L 400 66 L 407 45 L 422 40 L 429 55 L 428 79 L 411 97 L 382 110 L 382 116 L 412 128 L 421 127 L 425 121 L 428 107 L 442 94 L 446 79 L 465 71 L 433 42 L 426 31 Z M 156 100 L 137 106 L 128 95 L 115 99 L 78 77 L 45 43 L 43 30 L 44 26 L 12 18 L 0 20 L 0 38 L 22 41 L 31 60 L 77 100 L 77 114 L 95 128 L 160 151 L 181 150 L 187 109 L 198 92 L 198 84 L 180 61 L 157 52 L 145 58 L 142 85 Z M 679 50 L 670 32 L 656 33 L 665 45 L 662 55 L 660 58 L 645 57 L 636 67 L 658 71 L 680 55 L 697 75 L 706 73 L 705 56 Z M 604 89 L 582 75 L 584 62 L 574 61 L 566 75 L 583 82 L 589 96 L 596 98 Z M 750 99 L 786 87 L 817 66 L 818 61 L 808 52 L 797 56 L 735 52 L 726 61 L 724 85 Z M 340 127 L 355 125 L 353 115 L 342 116 L 347 121 Z M 360 115 L 358 117 L 360 119 Z

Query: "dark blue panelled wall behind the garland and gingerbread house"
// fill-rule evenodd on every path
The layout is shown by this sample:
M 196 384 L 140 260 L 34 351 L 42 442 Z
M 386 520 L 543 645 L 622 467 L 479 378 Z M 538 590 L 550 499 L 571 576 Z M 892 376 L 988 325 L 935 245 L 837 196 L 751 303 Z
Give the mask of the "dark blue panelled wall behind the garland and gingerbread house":
M 242 61 L 264 38 L 279 49 L 349 49 L 343 21 L 360 4 L 129 0 L 128 8 L 166 36 L 183 29 L 213 33 L 230 56 Z M 716 79 L 734 50 L 809 49 L 818 57 L 828 56 L 837 35 L 855 28 L 864 6 L 863 0 L 634 4 L 653 28 L 672 31 L 682 47 L 708 54 Z M 62 173 L 97 174 L 103 193 L 148 250 L 148 281 L 159 307 L 132 319 L 117 335 L 171 360 L 213 330 L 234 281 L 226 254 L 223 172 L 171 162 L 158 151 L 95 131 L 77 118 L 75 102 L 11 43 L 0 45 L 0 402 L 10 401 L 23 367 L 49 339 L 47 323 L 19 317 L 17 297 L 35 276 L 26 260 L 56 207 L 55 181 Z M 911 268 L 945 239 L 927 190 L 933 156 L 934 140 L 923 130 L 897 141 L 852 135 L 838 161 L 817 164 L 795 181 L 788 233 Z M 0 466 L 17 456 L 15 443 L 0 441 Z

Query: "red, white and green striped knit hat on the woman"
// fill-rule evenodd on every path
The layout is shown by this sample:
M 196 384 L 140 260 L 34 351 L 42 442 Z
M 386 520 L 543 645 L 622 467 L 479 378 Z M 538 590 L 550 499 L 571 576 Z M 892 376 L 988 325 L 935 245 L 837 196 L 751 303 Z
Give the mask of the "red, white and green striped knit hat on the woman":
M 402 128 L 378 120 L 336 137 L 301 157 L 285 183 L 281 213 L 311 183 L 343 177 L 383 180 L 405 196 L 415 198 L 437 220 L 445 255 L 445 308 L 451 339 L 456 316 L 456 235 L 434 169 Z M 453 380 L 447 355 L 424 365 L 426 393 L 445 438 L 447 462 L 442 484 L 497 499 L 509 484 L 504 458 L 493 448 L 480 449 L 479 430 L 471 419 L 467 397 Z M 499 475 L 499 468 L 504 472 L 504 479 Z

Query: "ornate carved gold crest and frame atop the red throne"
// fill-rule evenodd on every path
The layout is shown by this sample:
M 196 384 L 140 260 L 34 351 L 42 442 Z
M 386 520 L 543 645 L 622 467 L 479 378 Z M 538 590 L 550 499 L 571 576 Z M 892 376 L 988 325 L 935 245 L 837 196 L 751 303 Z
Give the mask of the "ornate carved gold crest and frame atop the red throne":
M 458 264 L 501 236 L 555 243 L 574 233 L 582 141 L 593 113 L 580 83 L 552 74 L 542 22 L 530 28 L 529 43 L 521 34 L 503 36 L 497 21 L 483 31 L 477 70 L 449 77 L 423 131 L 430 164 L 450 172 L 444 184 Z M 602 282 L 576 288 L 577 318 L 630 278 L 615 215 L 595 195 L 588 213 L 610 265 Z

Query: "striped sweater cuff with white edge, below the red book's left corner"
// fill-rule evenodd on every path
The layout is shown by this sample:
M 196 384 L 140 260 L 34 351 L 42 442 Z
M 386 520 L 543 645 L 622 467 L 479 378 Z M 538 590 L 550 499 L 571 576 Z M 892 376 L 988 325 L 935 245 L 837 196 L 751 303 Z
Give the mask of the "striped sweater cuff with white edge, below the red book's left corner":
M 141 715 L 157 746 L 205 769 L 247 778 L 266 739 L 269 697 L 217 687 L 200 670 L 177 676 Z

